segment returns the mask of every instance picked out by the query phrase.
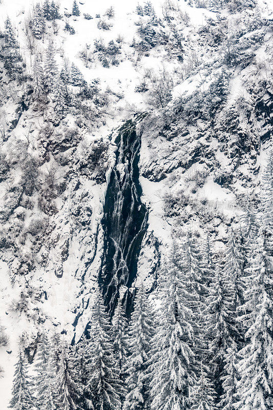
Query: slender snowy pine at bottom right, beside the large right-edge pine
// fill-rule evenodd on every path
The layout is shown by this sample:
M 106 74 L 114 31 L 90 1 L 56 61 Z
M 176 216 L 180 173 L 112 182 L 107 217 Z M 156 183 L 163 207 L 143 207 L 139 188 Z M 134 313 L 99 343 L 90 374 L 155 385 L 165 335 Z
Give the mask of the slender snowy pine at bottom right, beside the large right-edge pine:
M 222 376 L 223 394 L 219 407 L 222 410 L 234 410 L 237 402 L 236 388 L 239 380 L 237 345 L 228 347 L 224 358 L 224 376 Z

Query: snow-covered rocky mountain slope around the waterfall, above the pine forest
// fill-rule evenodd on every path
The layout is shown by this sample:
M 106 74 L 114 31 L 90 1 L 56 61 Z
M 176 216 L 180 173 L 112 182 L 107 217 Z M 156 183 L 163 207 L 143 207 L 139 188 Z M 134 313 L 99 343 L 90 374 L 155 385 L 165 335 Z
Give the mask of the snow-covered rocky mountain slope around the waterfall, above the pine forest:
M 123 267 L 115 282 L 117 292 L 132 288 L 129 300 L 139 279 L 156 289 L 174 238 L 209 234 L 213 252 L 225 252 L 247 202 L 259 205 L 272 147 L 269 0 L 154 0 L 143 15 L 136 0 L 85 0 L 79 16 L 71 15 L 72 3 L 58 2 L 58 18 L 46 19 L 35 36 L 32 1 L 0 2 L 0 324 L 9 337 L 0 346 L 3 409 L 19 338 L 32 361 L 43 330 L 75 342 L 90 320 L 94 291 L 107 279 L 103 263 L 113 258 L 105 218 L 103 225 L 112 170 L 115 187 L 129 175 L 137 191 L 130 189 L 134 200 L 126 192 L 116 199 L 120 210 L 132 205 L 130 223 L 118 229 L 130 237 L 136 209 L 148 210 L 147 223 L 143 217 L 135 228 L 144 227 L 141 246 L 128 251 L 137 273 L 124 275 Z M 12 72 L 7 50 L 13 61 L 21 56 Z M 48 81 L 44 90 L 37 73 Z M 140 147 L 124 148 L 117 138 L 129 119 Z M 127 249 L 121 237 L 118 246 Z

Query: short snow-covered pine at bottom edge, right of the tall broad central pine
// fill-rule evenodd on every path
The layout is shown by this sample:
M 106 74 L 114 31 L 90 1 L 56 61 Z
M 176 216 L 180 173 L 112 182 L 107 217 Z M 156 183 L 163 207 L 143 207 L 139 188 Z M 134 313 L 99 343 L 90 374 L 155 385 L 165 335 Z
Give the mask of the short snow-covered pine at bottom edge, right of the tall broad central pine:
M 199 377 L 191 389 L 191 410 L 216 410 L 214 384 L 208 378 L 208 368 L 200 363 Z

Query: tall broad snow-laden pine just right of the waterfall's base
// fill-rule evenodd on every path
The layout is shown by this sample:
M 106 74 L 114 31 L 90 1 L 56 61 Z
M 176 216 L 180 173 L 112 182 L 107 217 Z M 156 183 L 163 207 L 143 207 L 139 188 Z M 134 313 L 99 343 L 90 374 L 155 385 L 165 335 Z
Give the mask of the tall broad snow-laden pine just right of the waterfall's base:
M 194 384 L 194 332 L 192 311 L 185 306 L 188 295 L 182 262 L 173 253 L 161 272 L 161 310 L 152 341 L 149 366 L 152 410 L 188 408 L 190 386 Z

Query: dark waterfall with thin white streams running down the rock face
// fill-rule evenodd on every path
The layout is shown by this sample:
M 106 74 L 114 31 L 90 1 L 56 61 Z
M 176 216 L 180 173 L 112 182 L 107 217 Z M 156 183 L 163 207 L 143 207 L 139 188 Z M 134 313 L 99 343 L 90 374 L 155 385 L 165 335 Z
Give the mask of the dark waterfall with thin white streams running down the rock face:
M 104 203 L 100 284 L 110 314 L 115 308 L 120 286 L 130 288 L 137 276 L 137 260 L 147 229 L 148 210 L 140 200 L 138 161 L 141 136 L 136 132 L 136 124 L 137 120 L 128 120 L 119 130 L 116 163 Z M 124 297 L 127 310 L 131 299 L 128 290 Z

